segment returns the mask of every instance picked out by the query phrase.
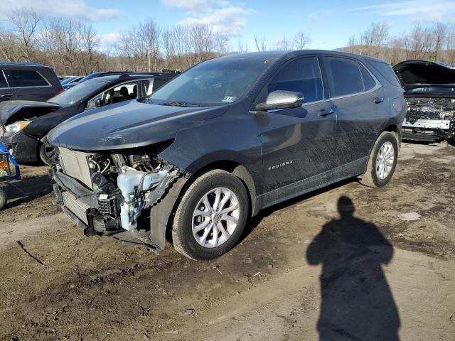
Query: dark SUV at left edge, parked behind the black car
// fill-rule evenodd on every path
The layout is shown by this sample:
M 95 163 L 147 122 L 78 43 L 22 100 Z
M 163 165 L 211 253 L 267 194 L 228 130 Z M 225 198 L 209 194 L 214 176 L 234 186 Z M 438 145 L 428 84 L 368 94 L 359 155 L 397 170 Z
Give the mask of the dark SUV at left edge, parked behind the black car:
M 46 101 L 63 91 L 52 67 L 33 63 L 0 63 L 0 102 Z

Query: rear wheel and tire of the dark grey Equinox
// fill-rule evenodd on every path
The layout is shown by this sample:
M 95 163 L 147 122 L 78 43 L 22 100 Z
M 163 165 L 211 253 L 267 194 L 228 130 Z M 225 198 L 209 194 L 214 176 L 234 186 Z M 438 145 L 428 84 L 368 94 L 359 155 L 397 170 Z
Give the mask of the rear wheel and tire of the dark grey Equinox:
M 360 179 L 360 183 L 373 188 L 386 185 L 395 172 L 397 157 L 398 142 L 396 134 L 390 131 L 383 131 L 371 150 L 367 170 Z

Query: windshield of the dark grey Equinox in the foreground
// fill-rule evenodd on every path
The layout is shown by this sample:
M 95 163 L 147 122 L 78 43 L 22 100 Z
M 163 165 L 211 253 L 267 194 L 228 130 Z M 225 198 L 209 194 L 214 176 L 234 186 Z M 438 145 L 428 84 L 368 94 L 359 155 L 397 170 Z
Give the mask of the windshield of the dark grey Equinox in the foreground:
M 153 104 L 225 104 L 243 97 L 277 58 L 218 58 L 196 65 L 151 95 Z

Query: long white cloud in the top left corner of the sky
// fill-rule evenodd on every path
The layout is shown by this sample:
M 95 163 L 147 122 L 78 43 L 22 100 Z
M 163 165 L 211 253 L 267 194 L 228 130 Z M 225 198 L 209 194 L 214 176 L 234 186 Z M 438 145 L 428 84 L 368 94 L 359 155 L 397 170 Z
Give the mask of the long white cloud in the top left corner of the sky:
M 87 6 L 84 0 L 2 0 L 0 17 L 7 18 L 15 9 L 33 9 L 41 16 L 103 21 L 122 13 L 117 9 Z

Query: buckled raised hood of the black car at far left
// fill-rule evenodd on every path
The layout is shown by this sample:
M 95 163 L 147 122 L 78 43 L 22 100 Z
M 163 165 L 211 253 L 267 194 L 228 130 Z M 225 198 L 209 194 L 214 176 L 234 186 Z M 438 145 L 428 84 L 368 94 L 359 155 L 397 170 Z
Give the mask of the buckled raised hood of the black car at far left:
M 6 101 L 0 103 L 0 124 L 24 118 L 38 117 L 60 109 L 57 104 L 36 101 Z M 17 117 L 17 119 L 16 119 Z M 10 118 L 12 118 L 10 120 Z

